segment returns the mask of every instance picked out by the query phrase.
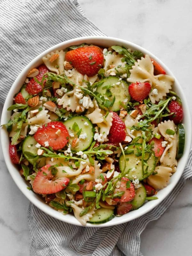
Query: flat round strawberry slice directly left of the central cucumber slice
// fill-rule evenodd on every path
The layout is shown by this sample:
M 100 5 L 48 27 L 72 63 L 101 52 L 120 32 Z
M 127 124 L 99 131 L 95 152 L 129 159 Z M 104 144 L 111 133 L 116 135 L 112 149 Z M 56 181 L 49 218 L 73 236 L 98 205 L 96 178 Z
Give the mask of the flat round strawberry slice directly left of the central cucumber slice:
M 55 121 L 39 127 L 34 138 L 44 147 L 50 146 L 53 150 L 60 150 L 68 143 L 69 133 L 62 122 Z

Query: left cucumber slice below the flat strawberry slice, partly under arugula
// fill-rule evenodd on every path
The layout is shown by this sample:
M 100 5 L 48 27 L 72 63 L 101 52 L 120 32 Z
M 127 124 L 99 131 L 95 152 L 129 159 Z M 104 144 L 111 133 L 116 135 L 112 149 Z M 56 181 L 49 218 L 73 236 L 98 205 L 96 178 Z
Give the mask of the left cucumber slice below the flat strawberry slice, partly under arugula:
M 23 141 L 22 152 L 30 164 L 35 164 L 35 162 L 37 162 L 37 167 L 42 167 L 45 165 L 46 157 L 42 157 L 42 158 L 39 158 L 38 160 L 36 160 L 35 158 L 29 158 L 29 156 L 26 154 L 26 152 L 27 152 L 27 153 L 32 153 L 32 154 L 35 154 L 36 156 L 38 156 L 37 155 L 38 148 L 36 148 L 36 146 L 35 146 L 36 144 L 37 144 L 37 142 L 33 136 L 30 136 L 30 135 L 27 136 L 25 138 L 25 140 Z

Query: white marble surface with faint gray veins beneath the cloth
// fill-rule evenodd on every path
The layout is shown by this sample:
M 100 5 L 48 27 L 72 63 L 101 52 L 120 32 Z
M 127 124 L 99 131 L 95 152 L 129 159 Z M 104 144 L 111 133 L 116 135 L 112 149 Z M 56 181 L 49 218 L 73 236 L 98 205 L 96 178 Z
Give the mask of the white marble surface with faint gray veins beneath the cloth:
M 153 52 L 176 75 L 191 100 L 191 0 L 79 0 L 85 15 L 108 36 L 134 42 Z M 0 149 L 1 150 L 1 149 Z M 29 256 L 27 208 L 6 170 L 0 151 L 0 256 Z M 192 181 L 170 208 L 141 234 L 144 256 L 191 256 Z

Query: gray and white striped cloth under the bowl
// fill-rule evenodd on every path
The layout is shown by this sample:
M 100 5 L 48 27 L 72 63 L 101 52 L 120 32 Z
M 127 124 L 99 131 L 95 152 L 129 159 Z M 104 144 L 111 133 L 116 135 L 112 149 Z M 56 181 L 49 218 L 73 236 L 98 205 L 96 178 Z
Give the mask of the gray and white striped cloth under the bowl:
M 39 53 L 80 36 L 103 36 L 76 0 L 3 0 L 0 5 L 0 103 L 20 71 Z M 10 76 L 11 74 L 11 76 Z M 192 152 L 178 185 L 159 206 L 118 226 L 86 228 L 55 220 L 31 203 L 28 225 L 31 256 L 142 256 L 140 234 L 158 219 L 192 176 Z

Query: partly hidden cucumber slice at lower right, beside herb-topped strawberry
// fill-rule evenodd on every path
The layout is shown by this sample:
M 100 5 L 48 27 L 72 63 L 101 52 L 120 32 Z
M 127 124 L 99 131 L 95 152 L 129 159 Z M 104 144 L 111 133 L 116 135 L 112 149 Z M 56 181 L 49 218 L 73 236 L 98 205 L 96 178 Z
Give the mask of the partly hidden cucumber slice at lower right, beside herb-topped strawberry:
M 146 196 L 146 189 L 142 184 L 140 184 L 140 188 L 137 188 L 135 190 L 134 199 L 131 202 L 129 202 L 130 204 L 132 204 L 131 210 L 136 210 L 140 208 L 145 203 Z

